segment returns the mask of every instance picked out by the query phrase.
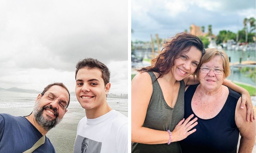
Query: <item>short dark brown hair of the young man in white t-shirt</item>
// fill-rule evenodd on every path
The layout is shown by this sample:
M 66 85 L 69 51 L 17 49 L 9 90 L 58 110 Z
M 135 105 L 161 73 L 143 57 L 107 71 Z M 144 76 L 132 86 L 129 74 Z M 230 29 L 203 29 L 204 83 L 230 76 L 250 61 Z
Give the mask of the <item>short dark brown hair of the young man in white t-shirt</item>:
M 77 72 L 79 69 L 81 68 L 96 68 L 99 69 L 102 73 L 102 79 L 104 81 L 104 84 L 106 85 L 107 83 L 109 83 L 109 78 L 110 78 L 110 71 L 108 69 L 108 67 L 103 64 L 102 62 L 98 61 L 97 59 L 93 59 L 93 58 L 85 58 L 83 60 L 79 60 L 77 65 L 76 65 L 76 76 L 75 78 L 77 78 Z

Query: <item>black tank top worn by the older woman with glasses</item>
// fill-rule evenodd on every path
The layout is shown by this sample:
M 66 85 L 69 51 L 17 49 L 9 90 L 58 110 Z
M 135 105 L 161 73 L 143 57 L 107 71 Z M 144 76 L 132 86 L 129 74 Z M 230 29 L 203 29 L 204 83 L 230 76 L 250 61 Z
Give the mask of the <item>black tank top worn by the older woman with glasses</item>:
M 191 108 L 191 100 L 197 86 L 198 84 L 189 86 L 185 92 L 185 119 L 188 118 L 190 114 L 195 115 Z M 183 153 L 237 152 L 239 130 L 235 122 L 235 110 L 237 101 L 241 95 L 230 88 L 228 89 L 228 98 L 223 108 L 214 118 L 200 119 L 196 115 L 193 117 L 193 119 L 195 117 L 198 118 L 198 124 L 194 127 L 196 128 L 196 132 L 180 141 Z

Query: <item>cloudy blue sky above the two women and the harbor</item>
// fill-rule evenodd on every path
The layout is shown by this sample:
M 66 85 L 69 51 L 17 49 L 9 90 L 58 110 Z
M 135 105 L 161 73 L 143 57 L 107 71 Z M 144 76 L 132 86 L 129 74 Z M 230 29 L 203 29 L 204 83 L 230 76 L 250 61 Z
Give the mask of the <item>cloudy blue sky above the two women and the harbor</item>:
M 150 41 L 150 34 L 160 38 L 172 37 L 190 25 L 212 25 L 212 32 L 220 30 L 237 33 L 244 18 L 255 18 L 255 0 L 132 0 L 132 40 Z

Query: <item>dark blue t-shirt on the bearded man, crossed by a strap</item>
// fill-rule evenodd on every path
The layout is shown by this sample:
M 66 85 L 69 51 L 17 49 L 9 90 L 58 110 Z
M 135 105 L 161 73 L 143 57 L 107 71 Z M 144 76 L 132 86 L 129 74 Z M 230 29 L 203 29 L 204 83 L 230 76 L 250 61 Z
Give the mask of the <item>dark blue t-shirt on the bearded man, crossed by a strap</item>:
M 0 152 L 24 152 L 30 149 L 42 134 L 25 117 L 0 114 Z M 45 143 L 33 153 L 54 152 L 50 140 L 45 137 Z

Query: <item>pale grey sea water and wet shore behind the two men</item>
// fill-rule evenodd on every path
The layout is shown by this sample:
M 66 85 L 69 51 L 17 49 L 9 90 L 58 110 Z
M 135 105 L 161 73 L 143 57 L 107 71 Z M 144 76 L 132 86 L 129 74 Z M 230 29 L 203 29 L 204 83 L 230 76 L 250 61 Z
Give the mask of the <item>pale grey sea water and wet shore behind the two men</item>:
M 0 91 L 0 113 L 27 116 L 33 110 L 37 96 L 35 93 Z M 112 109 L 128 116 L 128 99 L 107 98 L 107 103 Z M 46 134 L 57 153 L 73 152 L 77 124 L 86 116 L 75 95 L 70 95 L 67 109 L 62 121 Z

